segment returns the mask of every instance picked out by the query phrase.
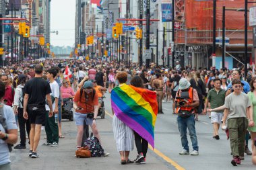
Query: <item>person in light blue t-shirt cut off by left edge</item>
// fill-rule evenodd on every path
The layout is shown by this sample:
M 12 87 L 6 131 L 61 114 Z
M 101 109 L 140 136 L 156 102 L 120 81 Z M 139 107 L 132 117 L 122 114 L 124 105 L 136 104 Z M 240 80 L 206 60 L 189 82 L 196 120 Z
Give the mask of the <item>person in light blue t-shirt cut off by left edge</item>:
M 0 170 L 11 170 L 8 144 L 18 141 L 18 130 L 13 110 L 9 105 L 3 104 L 5 84 L 0 81 Z

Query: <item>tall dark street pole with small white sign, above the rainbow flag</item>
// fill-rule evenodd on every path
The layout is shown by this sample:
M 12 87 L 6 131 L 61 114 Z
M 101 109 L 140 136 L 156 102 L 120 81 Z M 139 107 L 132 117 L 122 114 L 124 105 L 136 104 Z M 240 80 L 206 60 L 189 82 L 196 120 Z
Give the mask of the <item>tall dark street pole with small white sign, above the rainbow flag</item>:
M 150 50 L 150 0 L 147 0 L 146 25 L 146 50 Z M 146 67 L 150 67 L 150 59 L 146 59 Z

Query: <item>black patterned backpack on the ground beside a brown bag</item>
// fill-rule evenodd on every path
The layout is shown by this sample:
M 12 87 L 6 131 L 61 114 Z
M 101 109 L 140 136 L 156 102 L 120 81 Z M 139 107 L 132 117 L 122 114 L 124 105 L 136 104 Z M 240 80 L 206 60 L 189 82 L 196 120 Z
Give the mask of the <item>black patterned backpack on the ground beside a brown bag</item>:
M 90 148 L 91 157 L 102 157 L 102 156 L 104 156 L 104 149 L 102 148 L 98 138 L 93 136 L 93 133 L 91 133 L 90 138 L 88 138 L 82 144 L 83 144 L 83 146 L 87 146 L 88 148 Z

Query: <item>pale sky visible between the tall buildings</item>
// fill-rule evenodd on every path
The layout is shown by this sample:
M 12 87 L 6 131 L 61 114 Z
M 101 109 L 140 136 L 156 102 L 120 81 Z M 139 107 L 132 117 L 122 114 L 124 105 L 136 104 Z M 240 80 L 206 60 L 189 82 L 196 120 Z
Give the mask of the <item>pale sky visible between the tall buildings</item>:
M 75 43 L 75 0 L 51 1 L 51 45 L 73 46 Z

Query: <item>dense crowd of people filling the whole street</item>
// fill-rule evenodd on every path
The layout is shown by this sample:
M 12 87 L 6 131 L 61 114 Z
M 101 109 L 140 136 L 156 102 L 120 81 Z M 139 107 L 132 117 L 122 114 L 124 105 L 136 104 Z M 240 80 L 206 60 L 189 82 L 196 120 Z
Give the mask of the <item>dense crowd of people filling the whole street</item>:
M 0 97 L 3 112 L 1 108 L 0 111 L 6 118 L 7 127 L 1 122 L 0 148 L 5 149 L 5 153 L 0 155 L 5 159 L 0 159 L 3 160 L 0 161 L 0 169 L 9 166 L 8 144 L 17 142 L 18 130 L 20 144 L 14 148 L 24 149 L 29 143 L 29 156 L 32 158 L 39 157 L 36 151 L 42 126 L 46 132 L 43 145 L 59 145 L 59 139 L 65 138 L 61 130 L 64 103 L 67 110 L 72 107 L 75 110 L 77 149 L 81 148 L 84 135 L 87 133 L 88 136 L 88 125 L 100 140 L 96 118 L 104 95 L 112 95 L 113 89 L 121 88 L 123 84 L 154 91 L 158 107 L 156 114 L 164 114 L 163 102 L 172 103 L 172 114 L 178 115 L 181 133 L 183 151 L 180 155 L 189 155 L 187 128 L 193 145 L 190 155 L 199 155 L 195 122 L 200 115 L 208 115 L 214 128 L 213 138 L 220 139 L 220 127 L 230 138 L 232 165 L 241 164 L 245 153 L 253 155 L 253 163 L 256 164 L 256 77 L 253 69 L 248 70 L 248 76 L 244 77 L 243 69 L 218 70 L 211 67 L 210 70 L 196 70 L 182 68 L 179 63 L 173 69 L 157 67 L 154 63 L 146 68 L 137 64 L 125 65 L 123 62 L 68 59 L 33 60 L 1 67 Z M 133 163 L 129 159 L 129 151 L 133 150 L 133 136 L 138 152 L 135 162 L 145 163 L 148 140 L 123 123 L 114 116 L 113 129 L 121 164 Z M 128 145 L 119 140 L 117 134 L 120 134 L 120 130 L 127 132 L 123 138 L 128 141 Z M 26 133 L 29 140 L 26 140 Z M 251 146 L 248 146 L 249 138 Z M 108 155 L 104 153 L 104 156 Z

